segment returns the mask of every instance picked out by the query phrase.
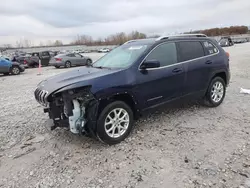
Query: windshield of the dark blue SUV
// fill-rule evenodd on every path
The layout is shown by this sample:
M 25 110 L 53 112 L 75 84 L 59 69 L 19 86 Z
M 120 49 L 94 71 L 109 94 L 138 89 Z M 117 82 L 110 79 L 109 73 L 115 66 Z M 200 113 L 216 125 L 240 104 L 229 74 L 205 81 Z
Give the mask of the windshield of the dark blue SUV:
M 116 49 L 103 56 L 93 67 L 105 68 L 126 68 L 132 65 L 138 57 L 147 49 L 148 45 L 127 44 L 117 47 Z

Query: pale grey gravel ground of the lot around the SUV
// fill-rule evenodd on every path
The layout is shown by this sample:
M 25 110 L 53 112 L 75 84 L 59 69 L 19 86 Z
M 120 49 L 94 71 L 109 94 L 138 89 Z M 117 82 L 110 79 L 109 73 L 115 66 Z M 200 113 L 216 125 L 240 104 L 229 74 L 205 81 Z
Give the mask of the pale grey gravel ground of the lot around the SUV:
M 165 107 L 115 146 L 49 130 L 33 91 L 67 69 L 0 76 L 0 187 L 250 187 L 250 95 L 239 93 L 250 89 L 250 43 L 226 51 L 232 79 L 220 107 Z

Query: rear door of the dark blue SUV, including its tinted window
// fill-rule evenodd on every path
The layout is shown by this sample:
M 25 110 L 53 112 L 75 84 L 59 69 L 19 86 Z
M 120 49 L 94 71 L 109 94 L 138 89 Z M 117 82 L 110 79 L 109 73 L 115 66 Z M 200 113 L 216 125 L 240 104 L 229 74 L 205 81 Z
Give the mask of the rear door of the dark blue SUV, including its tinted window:
M 180 62 L 184 65 L 186 74 L 183 94 L 200 94 L 207 89 L 210 79 L 210 61 L 200 41 L 178 42 Z

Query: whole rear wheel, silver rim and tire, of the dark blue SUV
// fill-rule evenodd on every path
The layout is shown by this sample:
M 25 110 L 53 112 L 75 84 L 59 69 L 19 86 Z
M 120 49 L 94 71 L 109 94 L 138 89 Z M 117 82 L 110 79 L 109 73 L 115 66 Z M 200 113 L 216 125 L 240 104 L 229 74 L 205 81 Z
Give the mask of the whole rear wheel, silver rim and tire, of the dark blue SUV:
M 225 81 L 221 77 L 215 77 L 208 87 L 204 97 L 204 104 L 208 107 L 217 107 L 223 102 L 225 94 Z

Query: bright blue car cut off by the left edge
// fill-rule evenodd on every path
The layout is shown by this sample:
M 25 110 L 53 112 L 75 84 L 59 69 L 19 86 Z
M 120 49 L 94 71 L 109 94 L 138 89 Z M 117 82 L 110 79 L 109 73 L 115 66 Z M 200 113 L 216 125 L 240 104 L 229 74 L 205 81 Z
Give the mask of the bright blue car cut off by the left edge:
M 24 72 L 25 68 L 17 62 L 12 62 L 4 58 L 0 58 L 0 73 L 4 75 L 18 75 Z

